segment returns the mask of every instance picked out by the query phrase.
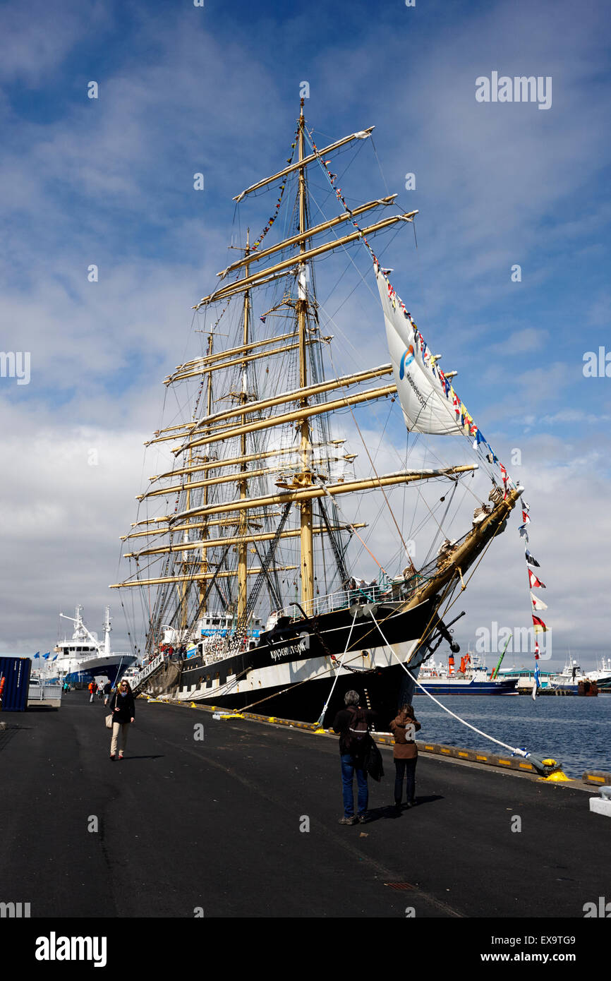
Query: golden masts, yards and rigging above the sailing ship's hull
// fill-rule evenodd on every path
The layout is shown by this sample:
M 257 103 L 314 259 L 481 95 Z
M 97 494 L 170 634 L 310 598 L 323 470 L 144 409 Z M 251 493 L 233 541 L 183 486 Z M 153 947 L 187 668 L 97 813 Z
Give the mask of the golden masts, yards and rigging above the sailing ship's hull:
M 346 427 L 342 427 L 341 436 L 334 428 L 333 413 L 354 416 L 358 407 L 394 403 L 397 355 L 391 346 L 390 363 L 335 371 L 333 337 L 324 333 L 327 325 L 321 322 L 316 263 L 354 243 L 368 243 L 368 237 L 379 232 L 413 223 L 417 212 L 397 210 L 394 194 L 353 208 L 338 195 L 344 211 L 314 224 L 308 169 L 323 167 L 329 174 L 330 161 L 324 158 L 355 141 L 367 140 L 372 130 L 355 132 L 318 150 L 306 129 L 302 100 L 287 166 L 236 195 L 239 203 L 280 182 L 275 215 L 252 244 L 250 232 L 246 233 L 241 257 L 218 274 L 220 283 L 193 308 L 204 318 L 200 330 L 207 336 L 206 349 L 178 365 L 166 377 L 165 385 L 167 390 L 195 385 L 196 394 L 190 398 L 188 418 L 162 427 L 147 442 L 158 458 L 168 463 L 157 468 L 161 472 L 150 477 L 149 487 L 138 495 L 138 519 L 124 537 L 130 573 L 115 584 L 117 588 L 143 590 L 147 601 L 146 643 L 151 653 L 168 630 L 175 645 L 199 644 L 203 652 L 199 624 L 205 614 L 215 612 L 225 615 L 226 625 L 230 622 L 223 651 L 244 650 L 249 637 L 258 637 L 250 626 L 257 607 L 265 608 L 266 602 L 267 611 L 281 616 L 292 608 L 293 619 L 302 616 L 306 625 L 312 625 L 321 611 L 332 611 L 332 595 L 344 591 L 345 602 L 353 600 L 356 584 L 348 547 L 355 536 L 364 544 L 360 531 L 368 525 L 357 520 L 358 511 L 355 513 L 351 506 L 359 495 L 382 490 L 383 509 L 390 507 L 384 489 L 450 481 L 450 500 L 441 522 L 436 517 L 438 505 L 433 510 L 427 504 L 436 528 L 445 536 L 454 491 L 464 476 L 477 470 L 473 462 L 442 461 L 430 466 L 421 457 L 416 466 L 408 467 L 405 459 L 400 469 L 380 473 L 364 439 L 371 469 L 357 472 L 357 454 L 344 446 Z M 314 151 L 308 152 L 312 146 Z M 292 195 L 287 188 L 292 189 Z M 292 211 L 284 209 L 286 233 L 280 241 L 261 248 L 282 206 L 291 199 Z M 360 222 L 363 216 L 380 209 L 392 213 L 374 221 L 367 218 L 367 225 L 357 223 L 357 219 Z M 353 226 L 354 231 L 346 225 Z M 369 244 L 367 247 L 371 251 Z M 378 266 L 376 276 L 383 306 L 384 277 Z M 394 309 L 390 288 L 388 302 Z M 392 317 L 385 307 L 384 316 Z M 206 330 L 209 317 L 214 324 Z M 220 325 L 228 337 L 222 349 L 218 347 Z M 413 322 L 410 325 L 410 330 L 412 326 L 415 329 Z M 368 352 L 364 353 L 367 364 Z M 331 377 L 326 373 L 330 360 Z M 443 376 L 443 384 L 454 374 Z M 441 418 L 445 407 L 436 406 L 436 411 Z M 437 422 L 439 432 L 452 432 L 455 419 L 445 430 L 440 425 Z M 507 490 L 505 487 L 508 512 L 517 491 L 509 489 L 508 495 Z M 505 517 L 504 511 L 500 517 L 494 516 L 491 537 Z M 445 552 L 440 550 L 438 559 L 426 566 L 421 563 L 418 569 L 395 517 L 393 522 L 402 545 L 396 553 L 401 566 L 390 568 L 387 560 L 382 566 L 376 558 L 380 579 L 377 584 L 368 584 L 370 598 L 385 595 L 394 603 L 409 600 L 414 607 L 420 604 L 424 609 L 435 595 L 449 594 L 463 580 L 461 567 L 449 562 L 450 556 L 464 553 L 466 569 L 484 547 L 484 533 L 477 547 L 469 536 L 457 542 L 446 539 Z M 401 573 L 405 561 L 407 566 Z M 365 585 L 362 581 L 361 587 Z M 365 595 L 363 589 L 361 593 Z M 427 608 L 423 620 L 429 624 L 427 630 L 436 622 L 434 618 L 434 612 Z M 327 656 L 329 651 L 318 627 L 312 630 Z M 358 630 L 355 638 L 357 635 Z M 361 630 L 359 636 L 362 641 L 369 635 Z M 355 670 L 349 657 L 346 669 Z M 243 668 L 240 677 L 245 673 Z

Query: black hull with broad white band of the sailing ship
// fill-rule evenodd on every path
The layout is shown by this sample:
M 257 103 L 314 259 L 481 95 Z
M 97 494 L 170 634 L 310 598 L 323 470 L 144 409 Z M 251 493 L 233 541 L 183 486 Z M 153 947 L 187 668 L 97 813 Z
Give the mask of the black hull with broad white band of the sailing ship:
M 402 663 L 417 675 L 427 654 L 418 643 L 435 619 L 433 610 L 428 600 L 409 610 L 380 603 L 284 618 L 251 649 L 185 661 L 176 695 L 303 722 L 318 721 L 327 705 L 324 724 L 330 726 L 352 689 L 379 712 L 379 728 L 385 728 L 400 704 L 411 701 L 414 686 Z

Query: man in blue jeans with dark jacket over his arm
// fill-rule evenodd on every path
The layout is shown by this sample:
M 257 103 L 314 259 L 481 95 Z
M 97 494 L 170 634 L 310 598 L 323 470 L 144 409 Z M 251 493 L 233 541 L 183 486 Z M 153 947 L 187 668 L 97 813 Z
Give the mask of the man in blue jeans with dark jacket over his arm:
M 341 786 L 343 793 L 343 817 L 339 824 L 364 824 L 367 820 L 369 787 L 364 757 L 371 737 L 370 726 L 376 721 L 377 713 L 369 708 L 361 708 L 358 692 L 346 692 L 346 707 L 337 712 L 333 722 L 333 732 L 339 733 L 339 759 L 341 761 Z M 354 794 L 352 790 L 354 772 L 358 784 L 358 816 L 354 816 Z

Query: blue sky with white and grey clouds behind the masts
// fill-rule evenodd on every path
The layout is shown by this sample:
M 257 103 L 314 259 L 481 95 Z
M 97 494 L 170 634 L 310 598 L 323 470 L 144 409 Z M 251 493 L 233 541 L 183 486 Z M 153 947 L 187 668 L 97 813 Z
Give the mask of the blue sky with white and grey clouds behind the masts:
M 29 357 L 27 384 L 0 377 L 1 652 L 48 650 L 76 602 L 98 631 L 110 603 L 126 649 L 108 584 L 152 472 L 162 381 L 231 236 L 271 213 L 271 194 L 237 216 L 232 197 L 280 169 L 307 82 L 319 146 L 376 127 L 337 158 L 346 198 L 396 191 L 419 211 L 418 247 L 408 227 L 383 261 L 526 488 L 552 663 L 611 654 L 610 22 L 603 2 L 562 0 L 0 6 L 0 347 Z M 493 73 L 540 78 L 550 104 L 478 101 Z M 320 181 L 313 194 L 337 213 Z M 342 364 L 365 344 L 382 364 L 371 264 L 351 255 L 334 292 L 317 267 L 324 313 Z M 376 411 L 366 431 L 396 469 Z M 465 647 L 531 622 L 517 525 L 459 607 Z M 393 534 L 385 520 L 381 551 Z

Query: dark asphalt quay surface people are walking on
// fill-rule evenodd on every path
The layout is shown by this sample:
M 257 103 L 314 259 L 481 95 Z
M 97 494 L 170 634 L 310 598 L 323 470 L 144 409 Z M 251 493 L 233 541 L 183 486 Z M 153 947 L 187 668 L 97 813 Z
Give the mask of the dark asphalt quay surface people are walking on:
M 370 820 L 341 827 L 334 736 L 140 698 L 112 762 L 105 714 L 84 692 L 3 713 L 0 901 L 32 918 L 581 919 L 611 899 L 583 781 L 423 751 L 395 817 L 382 741 Z

